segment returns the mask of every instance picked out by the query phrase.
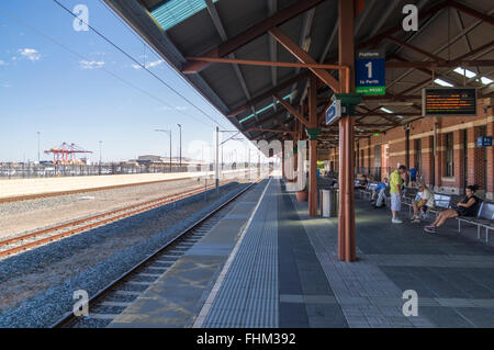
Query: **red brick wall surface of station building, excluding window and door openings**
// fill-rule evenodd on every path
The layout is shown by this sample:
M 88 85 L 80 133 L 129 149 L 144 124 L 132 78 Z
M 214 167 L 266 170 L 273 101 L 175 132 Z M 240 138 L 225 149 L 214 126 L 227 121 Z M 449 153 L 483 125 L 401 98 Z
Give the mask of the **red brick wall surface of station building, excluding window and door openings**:
M 463 193 L 464 187 L 464 131 L 467 131 L 468 184 L 476 183 L 480 195 L 494 199 L 494 147 L 476 147 L 478 136 L 494 135 L 492 104 L 494 99 L 479 101 L 474 117 L 425 117 L 409 123 L 409 166 L 415 165 L 415 149 L 420 139 L 422 177 L 436 191 Z M 435 125 L 437 127 L 436 154 L 434 154 Z M 486 132 L 482 132 L 486 127 Z M 446 134 L 453 133 L 453 176 L 446 177 Z M 394 127 L 380 136 L 359 139 L 359 171 L 374 168 L 374 147 L 389 144 L 391 170 L 406 163 L 406 135 L 404 126 Z M 357 144 L 356 144 L 357 150 Z M 363 157 L 362 157 L 363 150 Z M 338 149 L 329 155 L 338 170 Z M 486 160 L 486 161 L 484 161 Z M 485 168 L 486 167 L 486 168 Z M 486 176 L 487 174 L 487 176 Z

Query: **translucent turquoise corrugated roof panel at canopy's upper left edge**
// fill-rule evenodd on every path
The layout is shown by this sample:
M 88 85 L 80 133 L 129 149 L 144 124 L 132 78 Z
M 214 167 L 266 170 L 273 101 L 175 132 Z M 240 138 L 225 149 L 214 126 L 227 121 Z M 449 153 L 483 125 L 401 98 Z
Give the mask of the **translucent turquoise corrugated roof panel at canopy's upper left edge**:
M 213 0 L 216 2 L 217 0 Z M 204 0 L 170 0 L 158 7 L 151 15 L 165 31 L 205 9 Z

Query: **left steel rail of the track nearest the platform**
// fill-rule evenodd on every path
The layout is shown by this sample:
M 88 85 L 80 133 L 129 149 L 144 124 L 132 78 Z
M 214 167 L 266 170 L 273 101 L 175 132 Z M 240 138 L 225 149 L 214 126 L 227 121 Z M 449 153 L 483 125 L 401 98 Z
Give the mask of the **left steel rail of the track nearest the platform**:
M 158 248 L 147 257 L 145 257 L 141 262 L 135 264 L 133 268 L 121 274 L 119 278 L 106 284 L 106 286 L 99 290 L 92 297 L 90 297 L 87 302 L 88 307 L 91 304 L 94 304 L 98 300 L 102 298 L 104 295 L 110 293 L 113 289 L 116 286 L 125 283 L 125 280 L 137 272 L 139 269 L 145 267 L 149 261 L 151 261 L 154 258 L 159 256 L 161 252 L 164 252 L 166 249 L 170 248 L 173 244 L 177 241 L 180 241 L 186 235 L 193 232 L 198 226 L 202 225 L 204 222 L 206 222 L 209 218 L 214 216 L 217 212 L 220 212 L 222 208 L 224 208 L 226 205 L 238 199 L 242 194 L 250 190 L 254 185 L 258 184 L 260 181 L 262 181 L 263 178 L 257 180 L 256 182 L 252 182 L 251 184 L 247 185 L 244 190 L 236 193 L 234 196 L 228 199 L 225 203 L 221 204 L 220 206 L 215 207 L 211 212 L 209 212 L 206 215 L 204 215 L 202 218 L 198 219 L 195 223 L 190 225 L 188 228 L 182 230 L 180 234 L 178 234 L 173 239 L 165 244 L 162 247 Z M 86 304 L 85 304 L 86 305 Z M 65 314 L 59 320 L 54 323 L 49 328 L 68 328 L 70 326 L 74 326 L 78 321 L 78 317 L 74 315 L 74 312 L 69 312 Z

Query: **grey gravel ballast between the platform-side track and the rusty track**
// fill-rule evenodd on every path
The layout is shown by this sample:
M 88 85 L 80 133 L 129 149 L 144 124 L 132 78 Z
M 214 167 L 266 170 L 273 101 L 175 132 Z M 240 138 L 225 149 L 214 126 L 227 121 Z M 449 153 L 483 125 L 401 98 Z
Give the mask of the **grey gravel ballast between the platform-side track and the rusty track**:
M 67 278 L 57 283 L 43 280 L 25 281 L 37 289 L 37 294 L 15 307 L 2 311 L 0 327 L 50 326 L 71 311 L 76 302 L 72 298 L 75 291 L 85 290 L 89 295 L 94 295 L 110 281 L 119 278 L 246 185 L 231 183 L 222 188 L 221 197 L 213 200 L 214 190 L 209 191 L 212 199 L 209 203 L 202 202 L 204 194 L 197 194 L 178 202 L 177 211 L 172 211 L 175 204 L 171 203 L 0 261 L 0 289 L 9 280 L 22 279 L 26 274 L 35 275 L 37 271 L 49 270 L 54 266 L 64 268 L 66 264 L 70 269 Z M 199 205 L 201 202 L 202 205 Z M 123 237 L 123 233 L 147 229 L 154 221 L 159 222 L 157 217 L 179 213 L 180 208 L 189 208 L 190 213 L 177 215 L 173 223 L 158 227 L 157 232 L 148 237 L 138 235 L 131 246 L 117 246 L 117 242 L 124 239 L 115 238 Z M 117 247 L 109 245 L 112 241 Z M 78 260 L 72 259 L 75 251 L 78 252 Z M 3 292 L 1 294 L 7 295 Z M 22 295 L 15 296 L 22 298 Z

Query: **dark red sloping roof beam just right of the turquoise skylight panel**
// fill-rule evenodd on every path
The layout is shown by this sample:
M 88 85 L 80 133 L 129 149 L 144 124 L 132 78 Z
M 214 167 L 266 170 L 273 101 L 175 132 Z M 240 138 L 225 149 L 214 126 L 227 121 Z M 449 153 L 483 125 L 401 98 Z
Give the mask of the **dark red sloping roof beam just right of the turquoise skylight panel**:
M 284 22 L 297 16 L 301 13 L 304 13 L 307 10 L 318 5 L 324 0 L 299 0 L 293 4 L 290 4 L 282 10 L 278 11 L 273 15 L 254 24 L 249 29 L 244 32 L 235 35 L 228 41 L 213 47 L 207 50 L 204 55 L 206 57 L 224 57 L 239 47 L 250 43 L 255 38 L 268 32 L 270 29 L 276 27 L 277 25 L 281 25 Z M 182 72 L 184 74 L 195 74 L 207 67 L 209 63 L 204 61 L 186 61 L 182 65 Z

